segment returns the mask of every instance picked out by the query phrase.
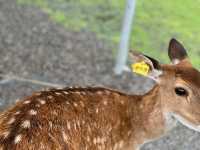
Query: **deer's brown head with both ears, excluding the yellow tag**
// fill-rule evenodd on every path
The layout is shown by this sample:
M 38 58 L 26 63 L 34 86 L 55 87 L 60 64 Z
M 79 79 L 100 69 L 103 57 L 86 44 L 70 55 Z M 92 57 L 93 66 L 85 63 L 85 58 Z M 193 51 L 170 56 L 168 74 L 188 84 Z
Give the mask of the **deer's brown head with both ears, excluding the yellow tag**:
M 175 39 L 169 43 L 171 64 L 133 54 L 134 60 L 149 66 L 147 77 L 159 86 L 162 109 L 187 127 L 200 132 L 200 72 L 189 61 L 185 48 Z

